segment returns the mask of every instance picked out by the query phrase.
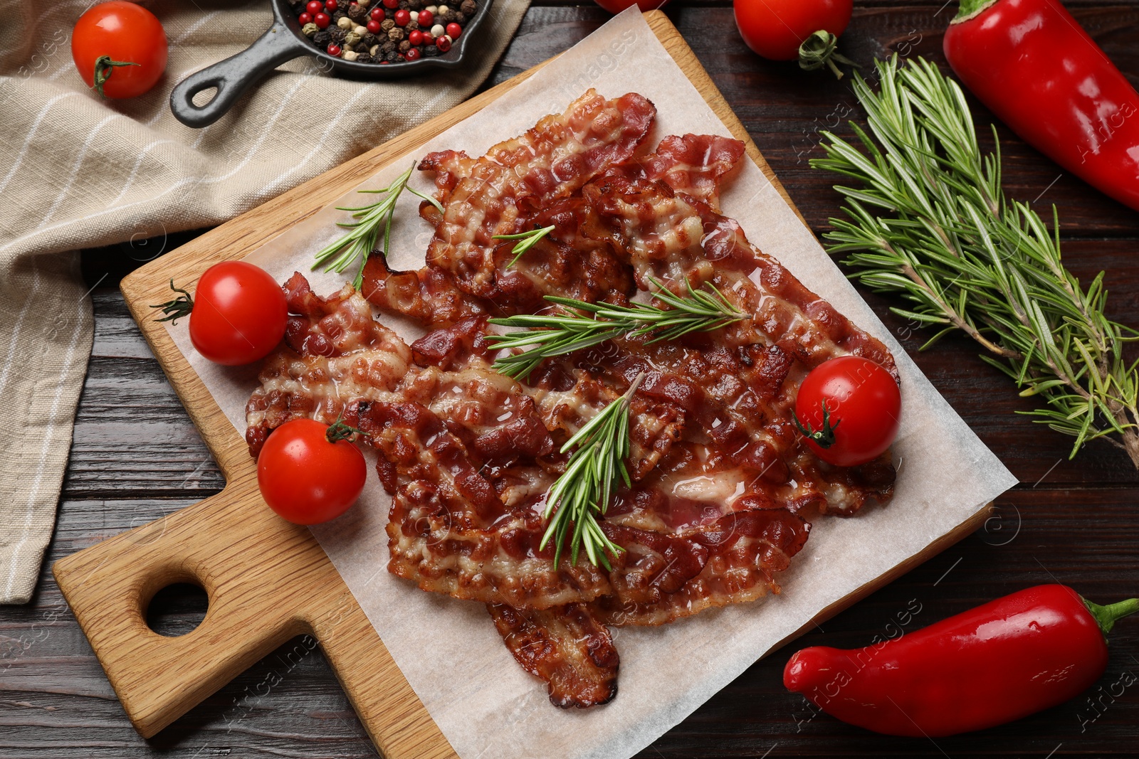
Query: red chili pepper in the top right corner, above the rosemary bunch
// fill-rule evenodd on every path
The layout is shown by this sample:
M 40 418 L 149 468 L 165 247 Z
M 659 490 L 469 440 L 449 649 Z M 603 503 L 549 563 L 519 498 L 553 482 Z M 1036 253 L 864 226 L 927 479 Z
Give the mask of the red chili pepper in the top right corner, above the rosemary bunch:
M 1025 142 L 1139 211 L 1139 93 L 1057 0 L 961 0 L 944 50 Z

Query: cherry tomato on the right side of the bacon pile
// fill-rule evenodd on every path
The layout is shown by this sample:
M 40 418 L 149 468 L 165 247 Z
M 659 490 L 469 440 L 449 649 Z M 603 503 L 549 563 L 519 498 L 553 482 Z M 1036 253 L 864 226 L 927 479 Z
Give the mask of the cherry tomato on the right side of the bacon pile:
M 795 398 L 803 442 L 837 467 L 877 459 L 898 435 L 902 395 L 880 365 L 859 356 L 825 361 L 806 376 Z

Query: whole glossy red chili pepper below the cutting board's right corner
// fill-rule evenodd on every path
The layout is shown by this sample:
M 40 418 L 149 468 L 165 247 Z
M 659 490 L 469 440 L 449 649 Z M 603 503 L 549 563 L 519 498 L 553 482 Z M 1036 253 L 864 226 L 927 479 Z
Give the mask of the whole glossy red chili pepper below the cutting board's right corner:
M 784 685 L 887 735 L 967 733 L 1055 707 L 1107 669 L 1105 635 L 1139 599 L 1100 607 L 1039 585 L 865 649 L 803 649 Z

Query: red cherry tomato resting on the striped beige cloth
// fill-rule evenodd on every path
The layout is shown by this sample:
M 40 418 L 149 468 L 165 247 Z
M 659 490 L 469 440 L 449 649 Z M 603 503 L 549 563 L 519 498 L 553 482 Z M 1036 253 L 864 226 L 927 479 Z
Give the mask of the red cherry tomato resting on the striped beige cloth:
M 133 98 L 166 71 L 166 32 L 146 8 L 124 0 L 95 6 L 75 22 L 72 58 L 88 86 Z

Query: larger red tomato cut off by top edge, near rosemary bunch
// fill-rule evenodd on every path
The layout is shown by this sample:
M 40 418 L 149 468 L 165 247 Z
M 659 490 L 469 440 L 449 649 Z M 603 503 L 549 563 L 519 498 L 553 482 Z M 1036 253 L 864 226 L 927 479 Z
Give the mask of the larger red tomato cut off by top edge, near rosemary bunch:
M 736 26 L 755 52 L 795 60 L 798 46 L 820 30 L 839 35 L 851 20 L 852 0 L 735 0 Z

